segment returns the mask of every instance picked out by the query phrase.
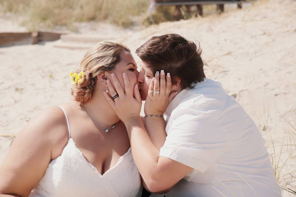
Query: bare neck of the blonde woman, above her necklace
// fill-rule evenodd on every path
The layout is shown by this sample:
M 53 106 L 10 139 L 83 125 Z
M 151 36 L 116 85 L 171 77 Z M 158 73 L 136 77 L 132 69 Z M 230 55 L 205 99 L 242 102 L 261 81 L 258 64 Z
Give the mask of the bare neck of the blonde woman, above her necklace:
M 92 98 L 84 103 L 88 116 L 103 128 L 110 128 L 120 119 L 103 95 L 101 88 L 95 89 Z M 83 107 L 82 107 L 83 108 Z M 84 108 L 83 108 L 84 109 Z

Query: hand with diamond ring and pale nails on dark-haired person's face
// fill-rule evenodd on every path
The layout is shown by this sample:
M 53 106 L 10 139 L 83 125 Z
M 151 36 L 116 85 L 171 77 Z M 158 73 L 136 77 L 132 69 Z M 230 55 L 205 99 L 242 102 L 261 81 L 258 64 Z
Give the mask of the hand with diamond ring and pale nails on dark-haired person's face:
M 150 82 L 144 106 L 145 115 L 163 115 L 176 93 L 176 91 L 171 92 L 171 87 L 172 80 L 170 73 L 167 73 L 166 80 L 164 70 L 161 70 L 160 74 L 157 71 L 155 78 Z

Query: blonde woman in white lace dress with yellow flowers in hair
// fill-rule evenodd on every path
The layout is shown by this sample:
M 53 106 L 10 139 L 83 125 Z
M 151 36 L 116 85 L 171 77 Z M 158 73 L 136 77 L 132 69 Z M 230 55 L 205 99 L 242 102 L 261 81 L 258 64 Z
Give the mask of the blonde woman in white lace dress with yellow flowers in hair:
M 0 167 L 0 196 L 140 196 L 129 136 L 106 101 L 106 80 L 125 72 L 137 85 L 130 50 L 103 41 L 70 73 L 74 101 L 42 111 L 14 139 Z M 120 81 L 122 87 L 123 81 Z

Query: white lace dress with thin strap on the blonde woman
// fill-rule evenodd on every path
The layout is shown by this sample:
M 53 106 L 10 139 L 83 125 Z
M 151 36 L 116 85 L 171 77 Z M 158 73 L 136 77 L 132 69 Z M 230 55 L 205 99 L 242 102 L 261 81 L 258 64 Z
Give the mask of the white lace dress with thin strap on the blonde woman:
M 65 116 L 68 123 L 66 113 Z M 73 139 L 69 138 L 62 154 L 49 163 L 43 178 L 29 197 L 137 197 L 141 193 L 141 176 L 131 148 L 119 158 L 114 167 L 101 175 L 87 162 Z

